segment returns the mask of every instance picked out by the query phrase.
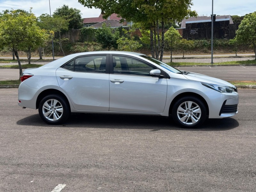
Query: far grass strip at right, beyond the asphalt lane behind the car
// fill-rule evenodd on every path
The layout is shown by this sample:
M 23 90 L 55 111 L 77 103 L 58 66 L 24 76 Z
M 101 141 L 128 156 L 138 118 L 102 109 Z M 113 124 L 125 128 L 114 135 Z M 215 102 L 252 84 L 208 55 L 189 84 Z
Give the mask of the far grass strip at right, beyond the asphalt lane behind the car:
M 172 62 L 167 63 L 170 66 L 180 66 L 180 65 L 186 65 L 186 66 L 192 66 L 192 65 L 211 65 L 211 63 L 187 63 L 187 62 Z M 213 65 L 243 65 L 243 64 L 256 64 L 256 60 L 244 60 L 244 61 L 227 61 L 222 63 L 213 63 Z

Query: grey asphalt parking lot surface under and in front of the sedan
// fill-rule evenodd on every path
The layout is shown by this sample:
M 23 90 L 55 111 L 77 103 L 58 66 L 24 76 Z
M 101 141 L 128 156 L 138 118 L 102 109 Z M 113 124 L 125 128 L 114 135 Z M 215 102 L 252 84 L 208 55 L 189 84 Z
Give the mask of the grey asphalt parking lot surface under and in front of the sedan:
M 236 116 L 189 130 L 96 114 L 47 125 L 0 89 L 0 191 L 255 191 L 256 90 L 238 91 Z

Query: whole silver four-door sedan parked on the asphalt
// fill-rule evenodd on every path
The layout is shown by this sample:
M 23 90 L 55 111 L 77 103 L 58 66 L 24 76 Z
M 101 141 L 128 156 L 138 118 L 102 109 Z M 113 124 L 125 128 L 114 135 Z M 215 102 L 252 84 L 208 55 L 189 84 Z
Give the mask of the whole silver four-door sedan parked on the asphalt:
M 132 52 L 84 52 L 68 55 L 21 75 L 18 104 L 38 109 L 48 124 L 71 113 L 172 116 L 193 128 L 206 118 L 237 113 L 234 85 L 180 71 Z

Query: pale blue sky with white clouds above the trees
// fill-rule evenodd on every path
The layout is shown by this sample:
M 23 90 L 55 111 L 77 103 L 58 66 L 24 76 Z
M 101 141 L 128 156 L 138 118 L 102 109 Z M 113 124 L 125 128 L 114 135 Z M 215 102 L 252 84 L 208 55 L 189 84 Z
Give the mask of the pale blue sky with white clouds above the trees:
M 193 6 L 191 10 L 195 10 L 199 16 L 212 14 L 212 0 L 192 0 Z M 89 9 L 84 7 L 77 0 L 50 0 L 51 13 L 63 4 L 69 7 L 79 9 L 83 18 L 98 17 L 99 9 Z M 50 14 L 49 0 L 0 0 L 0 11 L 6 9 L 24 9 L 32 12 L 38 17 L 43 13 Z M 217 15 L 239 15 L 243 16 L 247 13 L 256 11 L 255 0 L 214 0 L 213 14 Z

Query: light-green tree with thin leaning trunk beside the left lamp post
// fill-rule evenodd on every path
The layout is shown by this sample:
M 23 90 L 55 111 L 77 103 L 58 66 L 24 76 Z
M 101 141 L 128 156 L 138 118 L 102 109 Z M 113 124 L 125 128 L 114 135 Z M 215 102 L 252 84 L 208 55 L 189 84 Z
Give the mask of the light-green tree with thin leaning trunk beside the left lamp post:
M 60 49 L 65 56 L 65 53 L 62 49 L 62 42 L 67 40 L 67 38 L 61 38 L 61 31 L 68 30 L 68 20 L 60 16 L 51 17 L 48 14 L 42 14 L 38 18 L 38 25 L 40 28 L 46 29 L 51 33 L 53 31 L 57 34 L 57 38 L 54 38 L 54 42 L 60 45 Z

